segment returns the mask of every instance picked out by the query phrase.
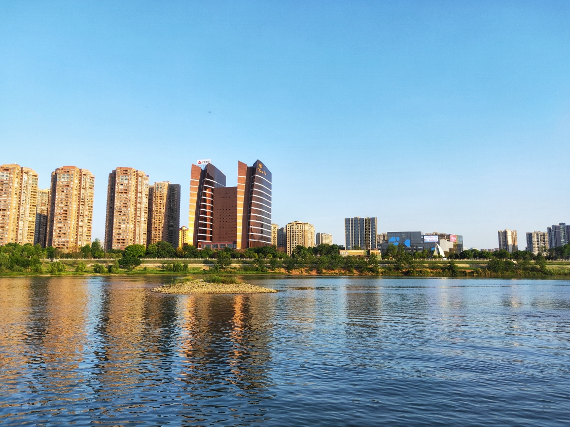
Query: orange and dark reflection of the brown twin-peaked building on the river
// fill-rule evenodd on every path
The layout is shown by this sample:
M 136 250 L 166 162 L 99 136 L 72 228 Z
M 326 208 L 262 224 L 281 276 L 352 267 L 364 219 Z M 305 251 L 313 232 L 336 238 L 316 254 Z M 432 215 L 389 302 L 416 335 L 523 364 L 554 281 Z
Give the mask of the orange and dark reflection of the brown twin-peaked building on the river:
M 208 389 L 270 385 L 271 306 L 263 295 L 192 295 L 181 321 L 185 381 Z M 259 396 L 260 397 L 260 396 Z

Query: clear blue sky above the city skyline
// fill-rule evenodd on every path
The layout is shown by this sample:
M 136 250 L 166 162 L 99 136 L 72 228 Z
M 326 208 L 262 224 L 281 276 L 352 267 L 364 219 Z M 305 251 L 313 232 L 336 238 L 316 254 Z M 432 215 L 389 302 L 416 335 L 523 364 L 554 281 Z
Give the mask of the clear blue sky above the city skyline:
M 182 185 L 266 163 L 273 221 L 344 244 L 570 223 L 570 2 L 0 2 L 0 163 Z

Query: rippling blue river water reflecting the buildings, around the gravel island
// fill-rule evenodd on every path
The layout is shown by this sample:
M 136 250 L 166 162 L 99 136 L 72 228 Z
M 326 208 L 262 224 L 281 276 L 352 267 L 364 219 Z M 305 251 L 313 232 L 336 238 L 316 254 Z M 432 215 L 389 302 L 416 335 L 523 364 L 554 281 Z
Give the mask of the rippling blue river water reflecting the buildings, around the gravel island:
M 570 281 L 0 279 L 0 425 L 570 424 Z

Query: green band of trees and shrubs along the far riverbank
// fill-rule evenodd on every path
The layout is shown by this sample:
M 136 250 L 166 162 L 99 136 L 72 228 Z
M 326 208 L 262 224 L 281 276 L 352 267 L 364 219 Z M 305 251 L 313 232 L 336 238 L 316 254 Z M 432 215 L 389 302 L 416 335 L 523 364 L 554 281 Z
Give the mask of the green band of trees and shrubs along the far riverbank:
M 569 245 L 567 245 L 568 247 Z M 395 249 L 394 249 L 395 248 Z M 561 248 L 560 253 L 570 248 Z M 470 252 L 470 253 L 469 253 Z M 476 258 L 473 251 L 453 254 L 451 259 L 426 257 L 389 247 L 381 257 L 342 257 L 337 245 L 297 247 L 288 256 L 275 247 L 220 251 L 186 246 L 174 249 L 166 242 L 130 245 L 124 251 L 101 250 L 98 240 L 78 251 L 63 253 L 39 245 L 10 243 L 0 247 L 0 275 L 40 274 L 329 274 L 362 276 L 568 276 L 570 262 L 549 260 L 549 254 L 499 251 Z M 470 255 L 470 257 L 467 257 Z M 481 256 L 481 253 L 477 254 Z M 487 254 L 483 254 L 487 256 Z

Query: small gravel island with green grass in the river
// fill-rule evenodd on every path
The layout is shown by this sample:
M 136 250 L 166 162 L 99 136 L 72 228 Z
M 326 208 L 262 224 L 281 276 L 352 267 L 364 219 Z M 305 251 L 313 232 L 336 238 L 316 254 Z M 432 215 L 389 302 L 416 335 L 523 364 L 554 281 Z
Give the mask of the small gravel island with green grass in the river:
M 174 295 L 192 294 L 259 294 L 273 293 L 274 289 L 244 283 L 235 277 L 211 276 L 206 280 L 188 278 L 151 289 L 153 292 Z

